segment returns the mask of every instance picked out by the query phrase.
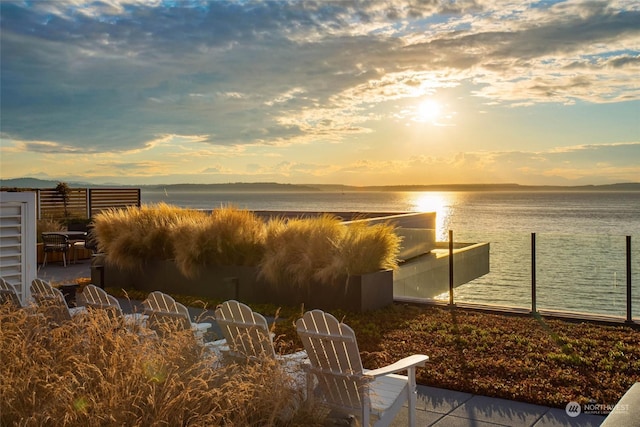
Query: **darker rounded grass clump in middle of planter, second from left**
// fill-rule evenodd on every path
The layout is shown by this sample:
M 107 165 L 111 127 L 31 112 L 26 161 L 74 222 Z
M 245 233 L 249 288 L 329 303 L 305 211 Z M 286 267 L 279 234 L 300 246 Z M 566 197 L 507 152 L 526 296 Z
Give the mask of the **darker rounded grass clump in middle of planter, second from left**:
M 235 207 L 185 221 L 173 233 L 176 264 L 187 277 L 207 265 L 257 265 L 264 254 L 265 226 L 255 213 Z

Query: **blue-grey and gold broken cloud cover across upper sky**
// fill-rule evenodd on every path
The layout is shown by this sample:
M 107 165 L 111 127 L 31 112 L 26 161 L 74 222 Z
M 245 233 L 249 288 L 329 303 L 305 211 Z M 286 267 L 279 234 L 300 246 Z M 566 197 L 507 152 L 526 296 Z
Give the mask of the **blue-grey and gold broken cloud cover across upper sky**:
M 0 2 L 0 13 L 3 139 L 37 155 L 157 154 L 176 168 L 207 156 L 273 158 L 373 138 L 409 121 L 411 102 L 463 90 L 492 106 L 640 100 L 631 1 L 60 0 Z M 497 161 L 478 153 L 454 165 Z M 157 172 L 139 160 L 125 169 Z M 255 170 L 368 170 L 290 162 Z M 413 173 L 371 162 L 398 179 Z M 220 164 L 197 170 L 251 172 Z

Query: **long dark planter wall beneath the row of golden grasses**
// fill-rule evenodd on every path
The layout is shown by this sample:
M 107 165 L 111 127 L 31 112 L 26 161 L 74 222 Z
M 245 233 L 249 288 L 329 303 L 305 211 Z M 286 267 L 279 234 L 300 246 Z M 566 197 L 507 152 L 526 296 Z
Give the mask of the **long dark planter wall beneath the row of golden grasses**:
M 312 283 L 302 288 L 273 285 L 258 277 L 257 267 L 208 267 L 197 277 L 185 277 L 173 261 L 153 261 L 142 269 L 122 270 L 104 264 L 100 257 L 92 265 L 92 282 L 103 287 L 133 288 L 144 292 L 236 299 L 248 303 L 298 306 L 305 309 L 368 311 L 393 303 L 393 271 L 379 271 L 337 280 Z

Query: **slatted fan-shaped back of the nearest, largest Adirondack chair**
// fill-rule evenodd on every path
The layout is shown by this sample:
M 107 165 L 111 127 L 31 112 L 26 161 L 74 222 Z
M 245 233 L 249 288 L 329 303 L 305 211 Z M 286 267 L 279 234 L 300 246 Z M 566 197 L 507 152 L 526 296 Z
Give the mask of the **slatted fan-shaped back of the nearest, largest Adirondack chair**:
M 308 311 L 296 329 L 329 406 L 361 410 L 369 406 L 367 383 L 353 329 L 331 314 Z

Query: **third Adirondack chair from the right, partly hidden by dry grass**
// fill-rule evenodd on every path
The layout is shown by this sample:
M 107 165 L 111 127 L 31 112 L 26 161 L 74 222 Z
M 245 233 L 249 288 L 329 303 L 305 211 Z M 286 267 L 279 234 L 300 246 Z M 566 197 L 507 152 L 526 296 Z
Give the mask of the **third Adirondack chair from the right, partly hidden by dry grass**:
M 151 292 L 142 305 L 144 314 L 149 316 L 147 324 L 156 332 L 163 333 L 167 327 L 191 329 L 197 337 L 202 338 L 211 328 L 209 322 L 192 322 L 189 309 L 163 292 Z

